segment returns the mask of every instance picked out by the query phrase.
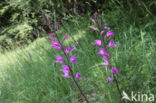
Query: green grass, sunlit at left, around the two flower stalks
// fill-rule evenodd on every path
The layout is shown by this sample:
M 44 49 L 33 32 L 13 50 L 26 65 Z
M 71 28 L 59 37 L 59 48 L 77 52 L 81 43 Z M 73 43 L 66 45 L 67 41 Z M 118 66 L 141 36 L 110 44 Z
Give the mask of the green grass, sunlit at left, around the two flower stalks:
M 72 67 L 83 79 L 78 81 L 92 103 L 120 103 L 114 83 L 108 84 L 109 69 L 101 67 L 102 58 L 92 45 L 98 34 L 88 29 L 87 17 L 64 23 L 59 35 L 69 32 L 65 45 L 76 41 L 78 62 Z M 127 25 L 126 25 L 127 26 Z M 111 49 L 113 66 L 119 69 L 121 90 L 156 95 L 156 31 L 152 26 L 116 26 L 119 47 Z M 81 96 L 72 81 L 62 78 L 61 64 L 54 64 L 54 51 L 47 38 L 39 38 L 27 47 L 0 54 L 0 100 L 2 103 L 78 103 Z M 83 100 L 79 100 L 81 102 Z M 142 102 L 143 103 L 143 102 Z M 147 102 L 146 102 L 147 103 Z M 150 103 L 150 102 L 149 102 Z

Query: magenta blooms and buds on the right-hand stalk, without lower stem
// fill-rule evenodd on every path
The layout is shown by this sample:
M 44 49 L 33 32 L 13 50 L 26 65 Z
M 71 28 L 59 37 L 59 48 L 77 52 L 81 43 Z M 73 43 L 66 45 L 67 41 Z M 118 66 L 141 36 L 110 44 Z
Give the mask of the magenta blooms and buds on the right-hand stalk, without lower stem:
M 114 32 L 110 29 L 110 27 L 104 25 L 102 27 L 102 21 L 98 21 L 97 15 L 94 15 L 94 19 L 90 18 L 91 22 L 95 24 L 95 27 L 90 27 L 91 30 L 97 31 L 100 34 L 100 40 L 94 40 L 94 44 L 99 47 L 99 50 L 97 54 L 101 55 L 104 57 L 104 62 L 101 63 L 100 65 L 102 66 L 109 66 L 110 67 L 110 72 L 114 75 L 118 75 L 118 69 L 114 68 L 111 66 L 110 63 L 110 54 L 108 52 L 109 48 L 113 48 L 118 46 L 118 44 L 115 44 L 115 42 L 111 39 L 108 43 L 106 43 L 106 39 L 110 39 L 112 36 L 114 36 Z M 102 29 L 101 29 L 102 28 Z M 107 82 L 111 82 L 112 78 L 108 77 Z

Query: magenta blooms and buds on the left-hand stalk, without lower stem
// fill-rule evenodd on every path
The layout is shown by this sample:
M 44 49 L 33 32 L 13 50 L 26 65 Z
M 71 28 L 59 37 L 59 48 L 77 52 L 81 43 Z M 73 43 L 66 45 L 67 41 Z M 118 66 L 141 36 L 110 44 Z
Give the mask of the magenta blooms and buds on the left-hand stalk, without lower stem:
M 56 27 L 57 30 L 59 30 L 59 25 L 57 24 Z M 49 33 L 49 35 L 51 36 L 49 39 L 51 40 L 51 46 L 55 49 L 55 50 L 60 50 L 63 52 L 65 58 L 67 59 L 65 65 L 62 65 L 62 69 L 60 71 L 62 71 L 64 74 L 62 75 L 62 77 L 65 78 L 70 78 L 70 63 L 75 63 L 77 61 L 77 57 L 76 55 L 73 55 L 70 57 L 70 55 L 72 55 L 73 50 L 76 50 L 76 45 L 73 45 L 73 48 L 70 48 L 70 46 L 66 46 L 66 48 L 64 48 L 64 46 L 62 45 L 62 41 L 59 40 L 57 33 Z M 68 38 L 69 34 L 65 34 L 63 37 L 63 41 L 66 40 Z M 70 54 L 70 55 L 69 55 Z M 70 57 L 70 60 L 69 60 Z M 64 63 L 65 60 L 62 56 L 56 56 L 56 63 Z M 82 77 L 80 76 L 80 73 L 77 72 L 76 76 L 77 79 L 82 79 Z

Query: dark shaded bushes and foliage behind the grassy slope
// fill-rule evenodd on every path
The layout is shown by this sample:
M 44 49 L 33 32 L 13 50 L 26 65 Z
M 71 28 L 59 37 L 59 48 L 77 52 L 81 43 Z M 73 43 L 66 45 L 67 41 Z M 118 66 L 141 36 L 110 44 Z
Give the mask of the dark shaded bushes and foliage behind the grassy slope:
M 43 14 L 51 22 L 68 21 L 81 14 L 95 11 L 109 14 L 112 25 L 149 24 L 156 15 L 155 0 L 1 0 L 0 47 L 9 49 L 27 44 L 49 32 Z M 117 18 L 113 18 L 116 15 Z M 126 15 L 126 16 L 125 16 Z M 56 18 L 56 20 L 54 19 Z M 117 23 L 117 24 L 115 24 Z M 151 23 L 151 22 L 150 22 Z

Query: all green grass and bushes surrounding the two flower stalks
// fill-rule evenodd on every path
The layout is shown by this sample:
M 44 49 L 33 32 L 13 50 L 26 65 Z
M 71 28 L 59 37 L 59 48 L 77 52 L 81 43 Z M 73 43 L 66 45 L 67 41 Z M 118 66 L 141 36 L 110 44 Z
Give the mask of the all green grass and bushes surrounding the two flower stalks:
M 79 42 L 78 63 L 73 67 L 82 74 L 79 83 L 89 100 L 120 103 L 115 85 L 106 83 L 107 68 L 98 65 L 100 57 L 92 45 L 99 37 L 89 30 L 89 17 L 95 11 L 114 30 L 113 39 L 119 44 L 110 55 L 119 69 L 121 90 L 156 96 L 155 5 L 155 0 L 1 0 L 0 102 L 83 101 L 73 83 L 60 77 L 60 66 L 54 67 L 54 54 L 59 53 L 49 46 L 46 24 L 58 22 L 60 37 L 69 33 L 65 45 Z

